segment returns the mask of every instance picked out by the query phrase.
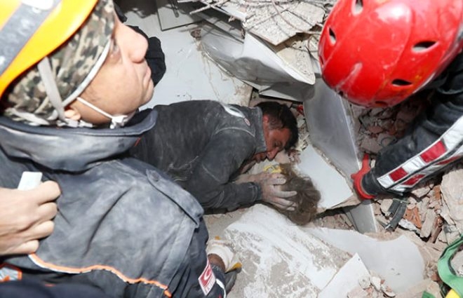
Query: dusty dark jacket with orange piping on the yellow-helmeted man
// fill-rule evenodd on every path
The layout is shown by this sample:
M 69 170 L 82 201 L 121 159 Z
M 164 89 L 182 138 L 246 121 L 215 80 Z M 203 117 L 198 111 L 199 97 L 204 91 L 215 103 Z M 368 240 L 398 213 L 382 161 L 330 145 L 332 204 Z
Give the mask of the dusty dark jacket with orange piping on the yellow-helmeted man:
M 0 187 L 17 187 L 29 170 L 62 191 L 51 236 L 36 253 L 4 261 L 23 276 L 86 283 L 114 298 L 205 297 L 201 206 L 159 170 L 123 157 L 155 121 L 156 112 L 144 111 L 133 125 L 110 130 L 33 127 L 0 116 Z M 220 271 L 215 278 L 224 282 Z M 208 285 L 208 297 L 223 296 L 219 284 Z

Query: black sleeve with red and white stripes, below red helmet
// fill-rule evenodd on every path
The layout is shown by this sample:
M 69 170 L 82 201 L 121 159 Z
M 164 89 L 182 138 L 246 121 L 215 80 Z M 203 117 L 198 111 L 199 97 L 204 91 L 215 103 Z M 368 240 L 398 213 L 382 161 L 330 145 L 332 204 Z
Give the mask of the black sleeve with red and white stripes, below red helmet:
M 432 105 L 400 140 L 380 151 L 362 180 L 368 193 L 402 195 L 463 156 L 463 59 L 445 72 Z

